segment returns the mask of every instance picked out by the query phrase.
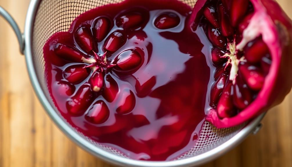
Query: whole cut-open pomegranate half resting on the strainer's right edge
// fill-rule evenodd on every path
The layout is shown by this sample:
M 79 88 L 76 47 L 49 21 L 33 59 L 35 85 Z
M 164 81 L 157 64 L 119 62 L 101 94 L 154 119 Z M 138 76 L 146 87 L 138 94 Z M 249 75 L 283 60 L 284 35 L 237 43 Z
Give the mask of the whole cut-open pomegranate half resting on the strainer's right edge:
M 274 0 L 198 0 L 189 25 L 213 44 L 206 119 L 217 128 L 244 123 L 290 92 L 292 24 Z

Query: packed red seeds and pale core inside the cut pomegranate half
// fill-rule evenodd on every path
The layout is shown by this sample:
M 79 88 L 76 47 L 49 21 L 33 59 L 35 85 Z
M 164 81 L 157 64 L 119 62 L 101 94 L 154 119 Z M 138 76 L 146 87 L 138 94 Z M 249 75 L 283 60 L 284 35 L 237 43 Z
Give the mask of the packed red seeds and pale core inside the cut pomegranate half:
M 235 116 L 253 102 L 272 63 L 261 36 L 237 48 L 252 16 L 249 0 L 209 1 L 203 8 L 201 25 L 213 44 L 211 57 L 217 68 L 210 106 L 221 118 Z

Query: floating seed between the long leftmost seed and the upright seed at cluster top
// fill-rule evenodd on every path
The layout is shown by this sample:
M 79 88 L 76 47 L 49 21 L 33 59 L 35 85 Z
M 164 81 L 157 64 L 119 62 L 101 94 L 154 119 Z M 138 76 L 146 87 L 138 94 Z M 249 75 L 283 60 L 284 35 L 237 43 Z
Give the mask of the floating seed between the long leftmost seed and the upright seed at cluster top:
M 93 39 L 91 32 L 87 27 L 80 27 L 75 33 L 75 39 L 77 44 L 86 53 L 89 53 L 93 49 Z

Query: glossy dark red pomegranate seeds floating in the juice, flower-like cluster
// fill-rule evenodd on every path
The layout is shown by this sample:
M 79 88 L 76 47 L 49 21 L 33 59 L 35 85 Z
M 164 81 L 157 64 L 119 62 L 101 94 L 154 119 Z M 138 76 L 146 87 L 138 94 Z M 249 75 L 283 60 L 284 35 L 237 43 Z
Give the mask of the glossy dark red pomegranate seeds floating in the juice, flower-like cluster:
M 117 98 L 120 91 L 119 85 L 111 75 L 108 75 L 109 72 L 114 70 L 131 74 L 142 64 L 141 55 L 133 48 L 122 51 L 116 58 L 109 60 L 109 57 L 126 44 L 128 39 L 126 32 L 141 28 L 145 21 L 139 12 L 124 13 L 119 15 L 114 22 L 101 16 L 92 23 L 93 25 L 82 24 L 76 29 L 73 35 L 77 46 L 74 48 L 62 43 L 55 44 L 54 53 L 59 58 L 68 63 L 79 63 L 69 65 L 64 70 L 63 78 L 67 82 L 58 83 L 60 95 L 72 96 L 75 92 L 74 85 L 88 80 L 67 101 L 66 108 L 69 113 L 81 115 L 88 111 L 86 120 L 94 124 L 104 123 L 108 119 L 109 108 L 106 103 L 98 100 L 92 105 L 92 102 L 97 95 L 102 95 L 108 102 L 113 102 Z M 177 26 L 179 22 L 180 19 L 176 14 L 163 13 L 157 17 L 154 25 L 158 29 L 169 29 Z M 114 27 L 112 24 L 120 29 L 109 34 Z M 99 45 L 102 45 L 102 54 L 98 52 Z M 135 107 L 135 95 L 128 90 L 128 92 L 120 93 L 119 96 L 116 102 L 119 107 L 116 112 L 128 114 Z

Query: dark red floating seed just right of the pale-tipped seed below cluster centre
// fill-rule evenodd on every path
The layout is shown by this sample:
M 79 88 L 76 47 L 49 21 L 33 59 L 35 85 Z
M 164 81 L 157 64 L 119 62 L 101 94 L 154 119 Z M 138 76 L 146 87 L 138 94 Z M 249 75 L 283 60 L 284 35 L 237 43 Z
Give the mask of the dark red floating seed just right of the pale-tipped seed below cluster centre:
M 118 83 L 109 74 L 105 76 L 105 90 L 102 92 L 103 97 L 108 102 L 113 102 L 119 92 Z

